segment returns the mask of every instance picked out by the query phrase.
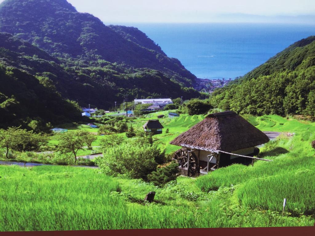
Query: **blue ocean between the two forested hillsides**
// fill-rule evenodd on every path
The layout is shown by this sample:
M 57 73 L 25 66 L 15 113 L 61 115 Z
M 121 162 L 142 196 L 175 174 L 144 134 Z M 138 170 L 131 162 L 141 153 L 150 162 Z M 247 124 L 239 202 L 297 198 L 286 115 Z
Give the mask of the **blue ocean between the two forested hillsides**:
M 243 76 L 292 43 L 315 35 L 315 25 L 132 24 L 198 78 Z

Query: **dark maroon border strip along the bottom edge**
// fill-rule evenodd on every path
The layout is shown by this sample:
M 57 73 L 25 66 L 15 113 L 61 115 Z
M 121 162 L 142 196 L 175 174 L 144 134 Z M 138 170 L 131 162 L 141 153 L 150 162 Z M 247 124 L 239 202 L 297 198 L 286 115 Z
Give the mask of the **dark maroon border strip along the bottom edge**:
M 130 235 L 130 236 L 291 236 L 291 235 L 315 235 L 315 226 L 308 227 L 270 227 L 270 228 L 211 228 L 211 229 L 132 229 L 132 230 L 88 230 L 88 231 L 48 231 L 48 232 L 2 232 L 0 235 Z

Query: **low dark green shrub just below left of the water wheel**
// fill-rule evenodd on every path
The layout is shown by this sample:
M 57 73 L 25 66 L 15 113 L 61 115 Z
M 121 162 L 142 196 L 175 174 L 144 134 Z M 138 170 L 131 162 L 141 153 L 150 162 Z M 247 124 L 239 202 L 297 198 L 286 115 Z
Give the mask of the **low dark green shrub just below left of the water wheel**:
M 152 182 L 154 185 L 162 185 L 175 180 L 180 174 L 180 169 L 176 162 L 172 162 L 168 166 L 158 168 L 148 175 L 148 181 Z

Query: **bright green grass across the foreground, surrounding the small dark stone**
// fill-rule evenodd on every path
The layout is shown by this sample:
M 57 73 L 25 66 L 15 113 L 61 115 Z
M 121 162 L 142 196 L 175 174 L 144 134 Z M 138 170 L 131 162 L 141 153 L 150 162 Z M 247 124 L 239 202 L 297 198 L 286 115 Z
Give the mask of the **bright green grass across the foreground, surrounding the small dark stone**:
M 311 218 L 231 206 L 180 177 L 164 188 L 63 166 L 0 166 L 0 231 L 312 225 Z M 156 203 L 144 203 L 149 191 Z M 226 198 L 222 199 L 222 196 Z

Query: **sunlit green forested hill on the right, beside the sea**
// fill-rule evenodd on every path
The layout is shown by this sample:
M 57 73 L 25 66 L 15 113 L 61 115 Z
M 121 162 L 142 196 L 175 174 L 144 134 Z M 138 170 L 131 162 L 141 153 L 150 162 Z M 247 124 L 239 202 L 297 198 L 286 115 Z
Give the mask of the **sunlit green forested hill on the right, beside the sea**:
M 252 115 L 315 115 L 315 36 L 295 42 L 229 86 L 215 107 Z

